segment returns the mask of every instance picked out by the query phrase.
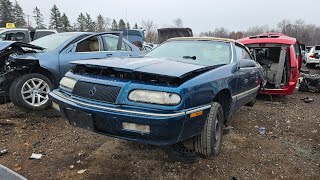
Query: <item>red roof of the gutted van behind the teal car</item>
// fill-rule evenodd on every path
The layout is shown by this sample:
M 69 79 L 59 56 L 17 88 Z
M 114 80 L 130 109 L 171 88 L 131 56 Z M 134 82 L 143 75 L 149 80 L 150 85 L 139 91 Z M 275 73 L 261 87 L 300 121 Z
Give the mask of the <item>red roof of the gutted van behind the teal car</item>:
M 238 42 L 242 44 L 259 44 L 259 43 L 276 43 L 276 44 L 296 44 L 297 39 L 289 37 L 282 33 L 264 33 L 256 36 L 249 36 L 243 39 L 239 39 Z

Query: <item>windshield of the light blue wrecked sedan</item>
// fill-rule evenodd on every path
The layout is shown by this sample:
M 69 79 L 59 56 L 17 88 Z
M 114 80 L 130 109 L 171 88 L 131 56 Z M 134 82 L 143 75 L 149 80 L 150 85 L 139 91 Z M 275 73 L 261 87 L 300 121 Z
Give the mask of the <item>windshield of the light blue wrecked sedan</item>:
M 74 34 L 52 34 L 32 41 L 30 44 L 43 47 L 46 50 L 54 50 L 72 37 Z

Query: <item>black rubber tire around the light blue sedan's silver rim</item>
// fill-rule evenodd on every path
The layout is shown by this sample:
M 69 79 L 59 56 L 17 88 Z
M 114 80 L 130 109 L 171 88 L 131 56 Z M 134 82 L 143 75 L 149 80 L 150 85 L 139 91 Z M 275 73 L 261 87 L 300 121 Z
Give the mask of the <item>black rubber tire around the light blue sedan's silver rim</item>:
M 52 91 L 53 90 L 53 84 L 52 82 L 44 75 L 42 74 L 37 74 L 37 73 L 31 73 L 31 74 L 26 74 L 15 80 L 11 87 L 10 87 L 10 99 L 13 102 L 13 104 L 17 107 L 21 107 L 23 109 L 27 110 L 32 110 L 32 111 L 39 111 L 39 110 L 45 110 L 48 107 L 51 106 L 51 101 L 50 99 L 43 100 L 43 103 L 40 103 L 38 99 L 36 99 L 37 102 L 39 102 L 36 105 L 33 105 L 32 103 L 28 102 L 27 100 L 24 100 L 22 90 L 25 88 L 25 83 L 27 83 L 30 80 L 38 80 L 38 81 L 43 81 L 43 83 L 46 83 L 48 87 L 46 88 L 46 91 Z M 40 87 L 39 87 L 40 88 Z M 39 89 L 38 88 L 38 89 Z M 32 95 L 32 93 L 30 93 Z M 42 94 L 43 95 L 43 94 Z M 38 97 L 38 95 L 36 95 Z M 48 95 L 45 96 L 48 98 Z M 41 100 L 40 100 L 41 101 Z

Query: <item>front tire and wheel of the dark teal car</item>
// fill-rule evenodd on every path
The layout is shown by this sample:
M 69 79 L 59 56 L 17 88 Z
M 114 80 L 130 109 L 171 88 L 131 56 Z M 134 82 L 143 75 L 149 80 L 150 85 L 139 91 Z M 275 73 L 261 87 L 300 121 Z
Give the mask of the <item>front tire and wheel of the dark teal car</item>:
M 201 134 L 193 139 L 194 150 L 200 157 L 217 157 L 220 154 L 223 124 L 223 109 L 219 103 L 213 102 Z

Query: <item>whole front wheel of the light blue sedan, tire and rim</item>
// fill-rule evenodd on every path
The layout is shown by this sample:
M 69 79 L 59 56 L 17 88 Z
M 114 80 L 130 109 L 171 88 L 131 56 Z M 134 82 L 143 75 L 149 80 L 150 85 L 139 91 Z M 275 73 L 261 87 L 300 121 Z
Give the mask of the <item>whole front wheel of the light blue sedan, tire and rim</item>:
M 49 92 L 52 82 L 42 74 L 21 76 L 10 88 L 10 99 L 15 106 L 28 110 L 45 110 L 51 105 Z

